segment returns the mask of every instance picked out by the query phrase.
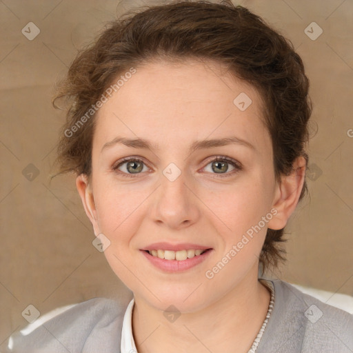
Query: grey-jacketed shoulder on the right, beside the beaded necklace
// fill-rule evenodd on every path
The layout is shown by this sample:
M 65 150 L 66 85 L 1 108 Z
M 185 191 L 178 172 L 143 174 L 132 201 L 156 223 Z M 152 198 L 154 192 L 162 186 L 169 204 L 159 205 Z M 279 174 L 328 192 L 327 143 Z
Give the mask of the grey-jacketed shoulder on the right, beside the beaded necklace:
M 352 314 L 285 281 L 272 283 L 274 308 L 265 331 L 274 337 L 275 345 L 287 347 L 286 352 L 353 352 Z

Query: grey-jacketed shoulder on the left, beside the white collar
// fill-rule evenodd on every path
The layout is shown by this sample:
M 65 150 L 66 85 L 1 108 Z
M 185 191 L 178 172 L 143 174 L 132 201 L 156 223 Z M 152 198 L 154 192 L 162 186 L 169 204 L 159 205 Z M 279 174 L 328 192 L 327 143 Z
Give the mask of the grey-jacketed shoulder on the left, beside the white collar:
M 107 352 L 119 352 L 126 306 L 104 298 L 73 305 L 39 327 L 34 322 L 12 335 L 6 352 L 99 352 L 102 345 Z

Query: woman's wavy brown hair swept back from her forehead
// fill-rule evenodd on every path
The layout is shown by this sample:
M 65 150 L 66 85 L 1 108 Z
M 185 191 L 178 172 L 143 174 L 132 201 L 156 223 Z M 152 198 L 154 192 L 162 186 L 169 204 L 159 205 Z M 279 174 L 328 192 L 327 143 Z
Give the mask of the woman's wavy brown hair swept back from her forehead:
M 208 59 L 227 65 L 261 94 L 276 179 L 292 172 L 296 157 L 308 162 L 305 143 L 312 107 L 303 62 L 292 43 L 256 14 L 230 0 L 174 1 L 144 6 L 108 25 L 77 54 L 52 101 L 58 108 L 55 101 L 65 97 L 69 106 L 59 140 L 57 174 L 76 172 L 90 177 L 94 114 L 89 117 L 88 110 L 119 74 L 158 58 Z M 83 116 L 88 119 L 83 126 L 77 125 Z M 299 200 L 306 192 L 305 181 Z M 285 261 L 286 252 L 278 246 L 287 241 L 283 230 L 268 229 L 259 259 L 263 272 Z

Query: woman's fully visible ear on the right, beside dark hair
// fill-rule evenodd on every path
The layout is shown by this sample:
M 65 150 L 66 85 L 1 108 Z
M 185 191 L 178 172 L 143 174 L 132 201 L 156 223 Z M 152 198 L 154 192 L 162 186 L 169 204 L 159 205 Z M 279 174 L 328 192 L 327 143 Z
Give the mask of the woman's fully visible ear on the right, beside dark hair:
M 268 222 L 268 228 L 280 230 L 287 224 L 301 196 L 305 181 L 305 168 L 305 158 L 297 157 L 293 163 L 292 173 L 288 176 L 281 176 L 281 183 L 276 183 L 276 195 L 272 208 L 275 208 L 277 213 Z

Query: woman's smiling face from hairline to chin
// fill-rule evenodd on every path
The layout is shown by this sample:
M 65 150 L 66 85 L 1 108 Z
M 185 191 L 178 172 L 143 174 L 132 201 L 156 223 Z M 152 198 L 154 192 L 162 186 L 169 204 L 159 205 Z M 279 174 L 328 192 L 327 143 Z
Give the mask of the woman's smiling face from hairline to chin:
M 220 68 L 146 64 L 95 118 L 86 212 L 110 241 L 112 270 L 161 310 L 192 312 L 257 279 L 266 230 L 275 229 L 279 194 L 259 94 Z M 179 263 L 144 251 L 172 249 L 178 259 L 210 250 Z

